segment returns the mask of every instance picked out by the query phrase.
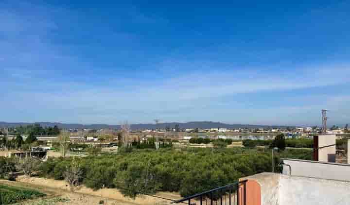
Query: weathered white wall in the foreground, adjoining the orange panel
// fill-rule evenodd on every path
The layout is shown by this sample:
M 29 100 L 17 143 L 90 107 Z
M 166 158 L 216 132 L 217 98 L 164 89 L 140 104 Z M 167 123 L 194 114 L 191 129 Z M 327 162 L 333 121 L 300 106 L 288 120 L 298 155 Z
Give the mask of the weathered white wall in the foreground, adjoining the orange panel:
M 243 179 L 261 186 L 261 205 L 350 205 L 350 182 L 260 173 Z

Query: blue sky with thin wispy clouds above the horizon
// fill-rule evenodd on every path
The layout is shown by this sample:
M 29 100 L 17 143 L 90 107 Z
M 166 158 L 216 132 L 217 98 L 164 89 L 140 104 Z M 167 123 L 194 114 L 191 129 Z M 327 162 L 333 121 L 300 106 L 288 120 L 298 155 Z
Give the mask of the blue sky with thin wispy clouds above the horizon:
M 0 1 L 0 121 L 350 124 L 349 1 Z

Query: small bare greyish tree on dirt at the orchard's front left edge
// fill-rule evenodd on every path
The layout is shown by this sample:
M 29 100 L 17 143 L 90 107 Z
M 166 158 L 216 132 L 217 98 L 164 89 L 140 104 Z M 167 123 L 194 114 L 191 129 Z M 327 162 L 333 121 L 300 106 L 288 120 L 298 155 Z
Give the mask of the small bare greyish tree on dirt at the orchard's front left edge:
M 73 192 L 75 188 L 79 186 L 79 181 L 82 179 L 82 173 L 83 171 L 78 160 L 73 157 L 70 162 L 70 166 L 67 166 L 66 171 L 64 172 L 65 180 L 70 185 L 70 191 Z

